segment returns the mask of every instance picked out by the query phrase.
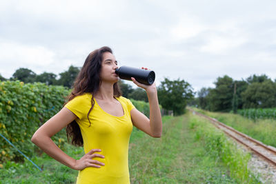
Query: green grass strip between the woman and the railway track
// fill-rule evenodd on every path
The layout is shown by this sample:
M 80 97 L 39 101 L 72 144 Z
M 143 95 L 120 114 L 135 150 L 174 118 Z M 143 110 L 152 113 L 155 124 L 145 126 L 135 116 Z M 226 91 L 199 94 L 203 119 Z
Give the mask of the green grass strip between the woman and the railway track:
M 134 136 L 139 136 L 139 139 L 130 143 L 131 183 L 242 181 L 233 174 L 231 178 L 228 166 L 206 152 L 204 140 L 195 139 L 197 133 L 190 129 L 192 121 L 188 115 L 168 119 L 161 139 L 152 139 L 141 131 L 135 132 Z

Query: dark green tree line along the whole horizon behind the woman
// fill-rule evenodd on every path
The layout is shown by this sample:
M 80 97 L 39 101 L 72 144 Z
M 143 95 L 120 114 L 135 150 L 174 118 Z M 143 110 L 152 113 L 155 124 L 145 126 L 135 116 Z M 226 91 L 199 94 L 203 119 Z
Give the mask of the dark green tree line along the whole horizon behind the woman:
M 68 70 L 57 75 L 52 72 L 36 74 L 28 68 L 19 68 L 10 79 L 5 79 L 0 74 L 0 81 L 41 82 L 71 88 L 80 70 L 81 68 L 70 65 Z M 184 114 L 187 104 L 218 112 L 276 107 L 276 81 L 272 81 L 266 74 L 254 74 L 240 81 L 225 75 L 218 77 L 214 84 L 215 88 L 201 88 L 195 98 L 195 92 L 187 81 L 164 78 L 164 81 L 157 86 L 159 103 L 164 110 L 171 110 L 175 115 Z M 119 81 L 119 86 L 126 98 L 148 102 L 148 96 L 141 88 L 132 88 L 132 85 L 122 80 Z

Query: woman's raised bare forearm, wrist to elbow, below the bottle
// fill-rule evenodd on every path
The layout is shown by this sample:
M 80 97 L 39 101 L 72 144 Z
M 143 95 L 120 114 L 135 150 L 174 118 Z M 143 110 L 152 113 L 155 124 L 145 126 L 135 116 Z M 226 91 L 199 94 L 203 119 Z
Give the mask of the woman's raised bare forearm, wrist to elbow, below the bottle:
M 157 90 L 147 92 L 148 103 L 150 104 L 150 129 L 152 136 L 161 137 L 162 119 L 158 103 Z

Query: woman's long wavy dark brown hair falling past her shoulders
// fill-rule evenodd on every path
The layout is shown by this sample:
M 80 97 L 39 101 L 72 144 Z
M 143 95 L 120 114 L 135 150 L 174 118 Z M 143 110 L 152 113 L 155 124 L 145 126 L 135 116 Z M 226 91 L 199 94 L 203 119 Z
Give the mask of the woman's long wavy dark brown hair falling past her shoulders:
M 112 50 L 108 47 L 102 47 L 97 50 L 91 52 L 86 61 L 81 68 L 77 78 L 75 79 L 72 92 L 69 96 L 67 96 L 68 101 L 71 101 L 76 96 L 79 96 L 84 93 L 92 94 L 91 98 L 91 108 L 87 114 L 88 121 L 91 125 L 89 114 L 94 107 L 95 101 L 93 99 L 93 94 L 95 94 L 99 90 L 99 85 L 101 84 L 100 71 L 101 71 L 101 61 L 103 59 L 103 53 L 110 52 L 112 54 Z M 113 95 L 116 97 L 121 96 L 121 90 L 119 89 L 118 83 L 113 85 Z M 90 126 L 89 125 L 89 126 Z M 81 129 L 76 121 L 72 121 L 66 127 L 67 139 L 71 138 L 72 145 L 83 145 L 83 139 L 81 136 Z

